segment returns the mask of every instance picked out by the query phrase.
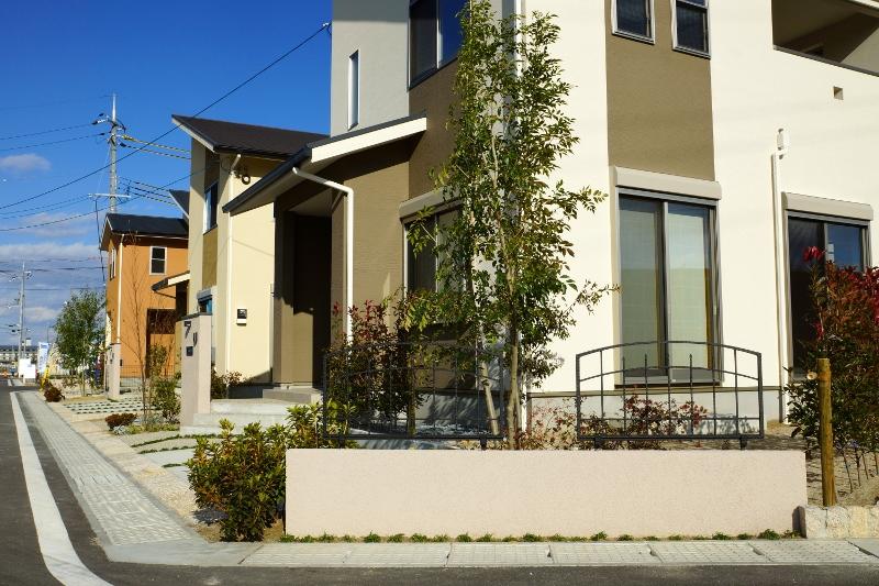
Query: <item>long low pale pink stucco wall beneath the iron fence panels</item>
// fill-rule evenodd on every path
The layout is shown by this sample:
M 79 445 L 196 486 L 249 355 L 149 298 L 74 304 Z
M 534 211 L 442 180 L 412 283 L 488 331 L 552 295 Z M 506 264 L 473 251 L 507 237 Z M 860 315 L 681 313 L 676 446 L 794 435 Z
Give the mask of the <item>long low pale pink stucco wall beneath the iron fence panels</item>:
M 287 452 L 292 535 L 753 534 L 805 502 L 800 452 Z

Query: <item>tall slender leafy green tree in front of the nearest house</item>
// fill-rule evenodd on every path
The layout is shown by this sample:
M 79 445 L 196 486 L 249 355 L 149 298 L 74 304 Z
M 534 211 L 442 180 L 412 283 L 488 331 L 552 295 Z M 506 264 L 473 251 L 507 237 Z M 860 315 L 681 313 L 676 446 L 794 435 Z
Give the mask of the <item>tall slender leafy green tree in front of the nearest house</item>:
M 438 258 L 443 291 L 424 297 L 420 318 L 464 325 L 479 344 L 502 344 L 510 373 L 507 440 L 520 429 L 523 379 L 538 383 L 557 366 L 548 345 L 565 339 L 580 306 L 593 308 L 610 287 L 570 274 L 570 222 L 607 196 L 569 189 L 554 176 L 578 139 L 566 113 L 571 86 L 552 55 L 555 16 L 499 20 L 488 0 L 461 13 L 464 43 L 454 82 L 452 155 L 434 173 L 455 220 L 411 230 L 416 252 Z M 430 318 L 426 318 L 430 316 Z

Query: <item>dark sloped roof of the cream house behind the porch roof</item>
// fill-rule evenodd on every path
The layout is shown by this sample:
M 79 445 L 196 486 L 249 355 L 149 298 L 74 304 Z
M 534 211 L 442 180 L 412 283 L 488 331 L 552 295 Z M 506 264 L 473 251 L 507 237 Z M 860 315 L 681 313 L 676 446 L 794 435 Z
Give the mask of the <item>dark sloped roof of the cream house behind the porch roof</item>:
M 171 115 L 171 121 L 214 153 L 241 153 L 278 161 L 283 161 L 299 152 L 305 143 L 326 137 L 325 134 L 314 132 L 180 114 Z

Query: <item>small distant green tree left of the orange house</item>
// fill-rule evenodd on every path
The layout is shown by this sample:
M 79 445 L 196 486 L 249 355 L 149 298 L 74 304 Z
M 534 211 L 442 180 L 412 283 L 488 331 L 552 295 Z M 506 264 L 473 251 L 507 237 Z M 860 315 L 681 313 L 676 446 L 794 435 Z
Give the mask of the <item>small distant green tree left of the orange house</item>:
M 77 372 L 82 391 L 86 371 L 98 360 L 104 335 L 104 299 L 94 291 L 74 294 L 55 321 L 55 345 L 62 366 Z

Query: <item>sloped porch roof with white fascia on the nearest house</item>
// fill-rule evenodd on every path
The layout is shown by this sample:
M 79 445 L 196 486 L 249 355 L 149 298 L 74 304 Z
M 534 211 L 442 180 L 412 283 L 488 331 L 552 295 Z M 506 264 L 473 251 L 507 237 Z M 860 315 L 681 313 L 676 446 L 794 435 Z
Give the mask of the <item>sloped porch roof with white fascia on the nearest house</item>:
M 303 179 L 293 168 L 316 173 L 348 155 L 402 141 L 427 130 L 427 115 L 418 114 L 305 144 L 297 154 L 223 206 L 236 215 L 274 202 Z

